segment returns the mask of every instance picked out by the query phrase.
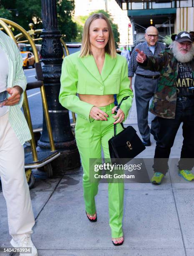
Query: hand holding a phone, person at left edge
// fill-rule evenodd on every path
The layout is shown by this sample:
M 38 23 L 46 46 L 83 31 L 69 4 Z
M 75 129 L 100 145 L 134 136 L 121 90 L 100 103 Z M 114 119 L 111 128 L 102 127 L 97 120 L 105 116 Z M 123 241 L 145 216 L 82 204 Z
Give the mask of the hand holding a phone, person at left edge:
M 11 95 L 8 100 L 2 103 L 3 106 L 13 106 L 18 104 L 20 101 L 21 93 L 23 92 L 22 88 L 15 86 L 7 89 L 8 93 Z

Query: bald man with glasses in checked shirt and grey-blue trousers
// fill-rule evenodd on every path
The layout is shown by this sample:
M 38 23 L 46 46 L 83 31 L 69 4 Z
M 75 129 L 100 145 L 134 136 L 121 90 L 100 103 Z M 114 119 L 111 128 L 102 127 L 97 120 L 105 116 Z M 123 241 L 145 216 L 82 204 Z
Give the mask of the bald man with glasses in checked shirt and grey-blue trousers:
M 155 117 L 151 122 L 151 129 L 148 125 L 148 109 L 149 102 L 154 96 L 156 91 L 158 78 L 160 72 L 153 72 L 150 70 L 145 70 L 137 64 L 136 49 L 144 51 L 146 56 L 158 56 L 161 51 L 164 51 L 164 44 L 158 42 L 159 32 L 154 26 L 150 26 L 145 31 L 145 42 L 138 44 L 131 54 L 128 65 L 128 77 L 130 82 L 132 82 L 132 77 L 134 73 L 135 78 L 135 98 L 136 98 L 136 108 L 137 108 L 137 123 L 139 132 L 143 138 L 143 143 L 145 146 L 150 146 L 150 133 L 153 134 L 154 139 L 157 140 L 157 133 L 159 129 L 158 118 Z

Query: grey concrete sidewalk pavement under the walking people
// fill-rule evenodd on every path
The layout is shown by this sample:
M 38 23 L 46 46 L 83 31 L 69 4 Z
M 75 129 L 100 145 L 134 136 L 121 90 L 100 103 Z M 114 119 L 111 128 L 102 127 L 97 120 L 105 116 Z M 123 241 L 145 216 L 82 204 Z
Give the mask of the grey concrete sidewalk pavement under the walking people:
M 149 123 L 151 118 L 149 114 Z M 126 124 L 138 131 L 135 100 Z M 181 145 L 180 128 L 171 158 L 179 158 Z M 153 158 L 155 146 L 151 135 L 151 146 L 139 157 Z M 98 221 L 90 223 L 83 203 L 82 173 L 82 168 L 78 168 L 52 179 L 36 179 L 30 190 L 36 219 L 32 238 L 40 256 L 194 255 L 194 183 L 181 179 L 176 166 L 166 174 L 161 185 L 125 184 L 125 241 L 118 247 L 111 243 L 107 184 L 99 185 Z M 5 200 L 0 190 L 0 247 L 10 247 L 10 239 Z M 9 254 L 0 252 L 0 256 L 5 255 Z

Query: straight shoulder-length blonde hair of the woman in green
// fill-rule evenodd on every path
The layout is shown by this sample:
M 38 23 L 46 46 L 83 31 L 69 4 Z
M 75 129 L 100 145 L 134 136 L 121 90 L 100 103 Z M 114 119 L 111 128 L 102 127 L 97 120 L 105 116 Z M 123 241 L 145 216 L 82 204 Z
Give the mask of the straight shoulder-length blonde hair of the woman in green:
M 113 36 L 111 24 L 108 18 L 103 13 L 94 13 L 87 18 L 86 23 L 83 27 L 80 57 L 84 57 L 92 54 L 91 48 L 90 48 L 89 29 L 90 29 L 91 23 L 96 19 L 104 19 L 106 21 L 108 26 L 109 38 L 108 38 L 108 43 L 105 46 L 105 52 L 109 54 L 111 58 L 116 58 L 116 48 L 115 48 L 115 42 L 114 42 L 114 36 Z

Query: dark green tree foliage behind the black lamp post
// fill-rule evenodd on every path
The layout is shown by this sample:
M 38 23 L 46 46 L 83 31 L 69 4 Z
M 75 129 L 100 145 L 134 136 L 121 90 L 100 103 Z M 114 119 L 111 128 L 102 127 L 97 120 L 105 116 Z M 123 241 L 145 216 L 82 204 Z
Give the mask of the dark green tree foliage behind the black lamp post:
M 74 8 L 74 0 L 57 1 L 58 27 L 66 35 L 65 41 L 77 36 L 76 23 L 72 21 Z M 29 23 L 34 23 L 34 29 L 38 29 L 42 28 L 41 9 L 41 0 L 1 0 L 0 17 L 13 20 L 26 30 L 29 30 Z

